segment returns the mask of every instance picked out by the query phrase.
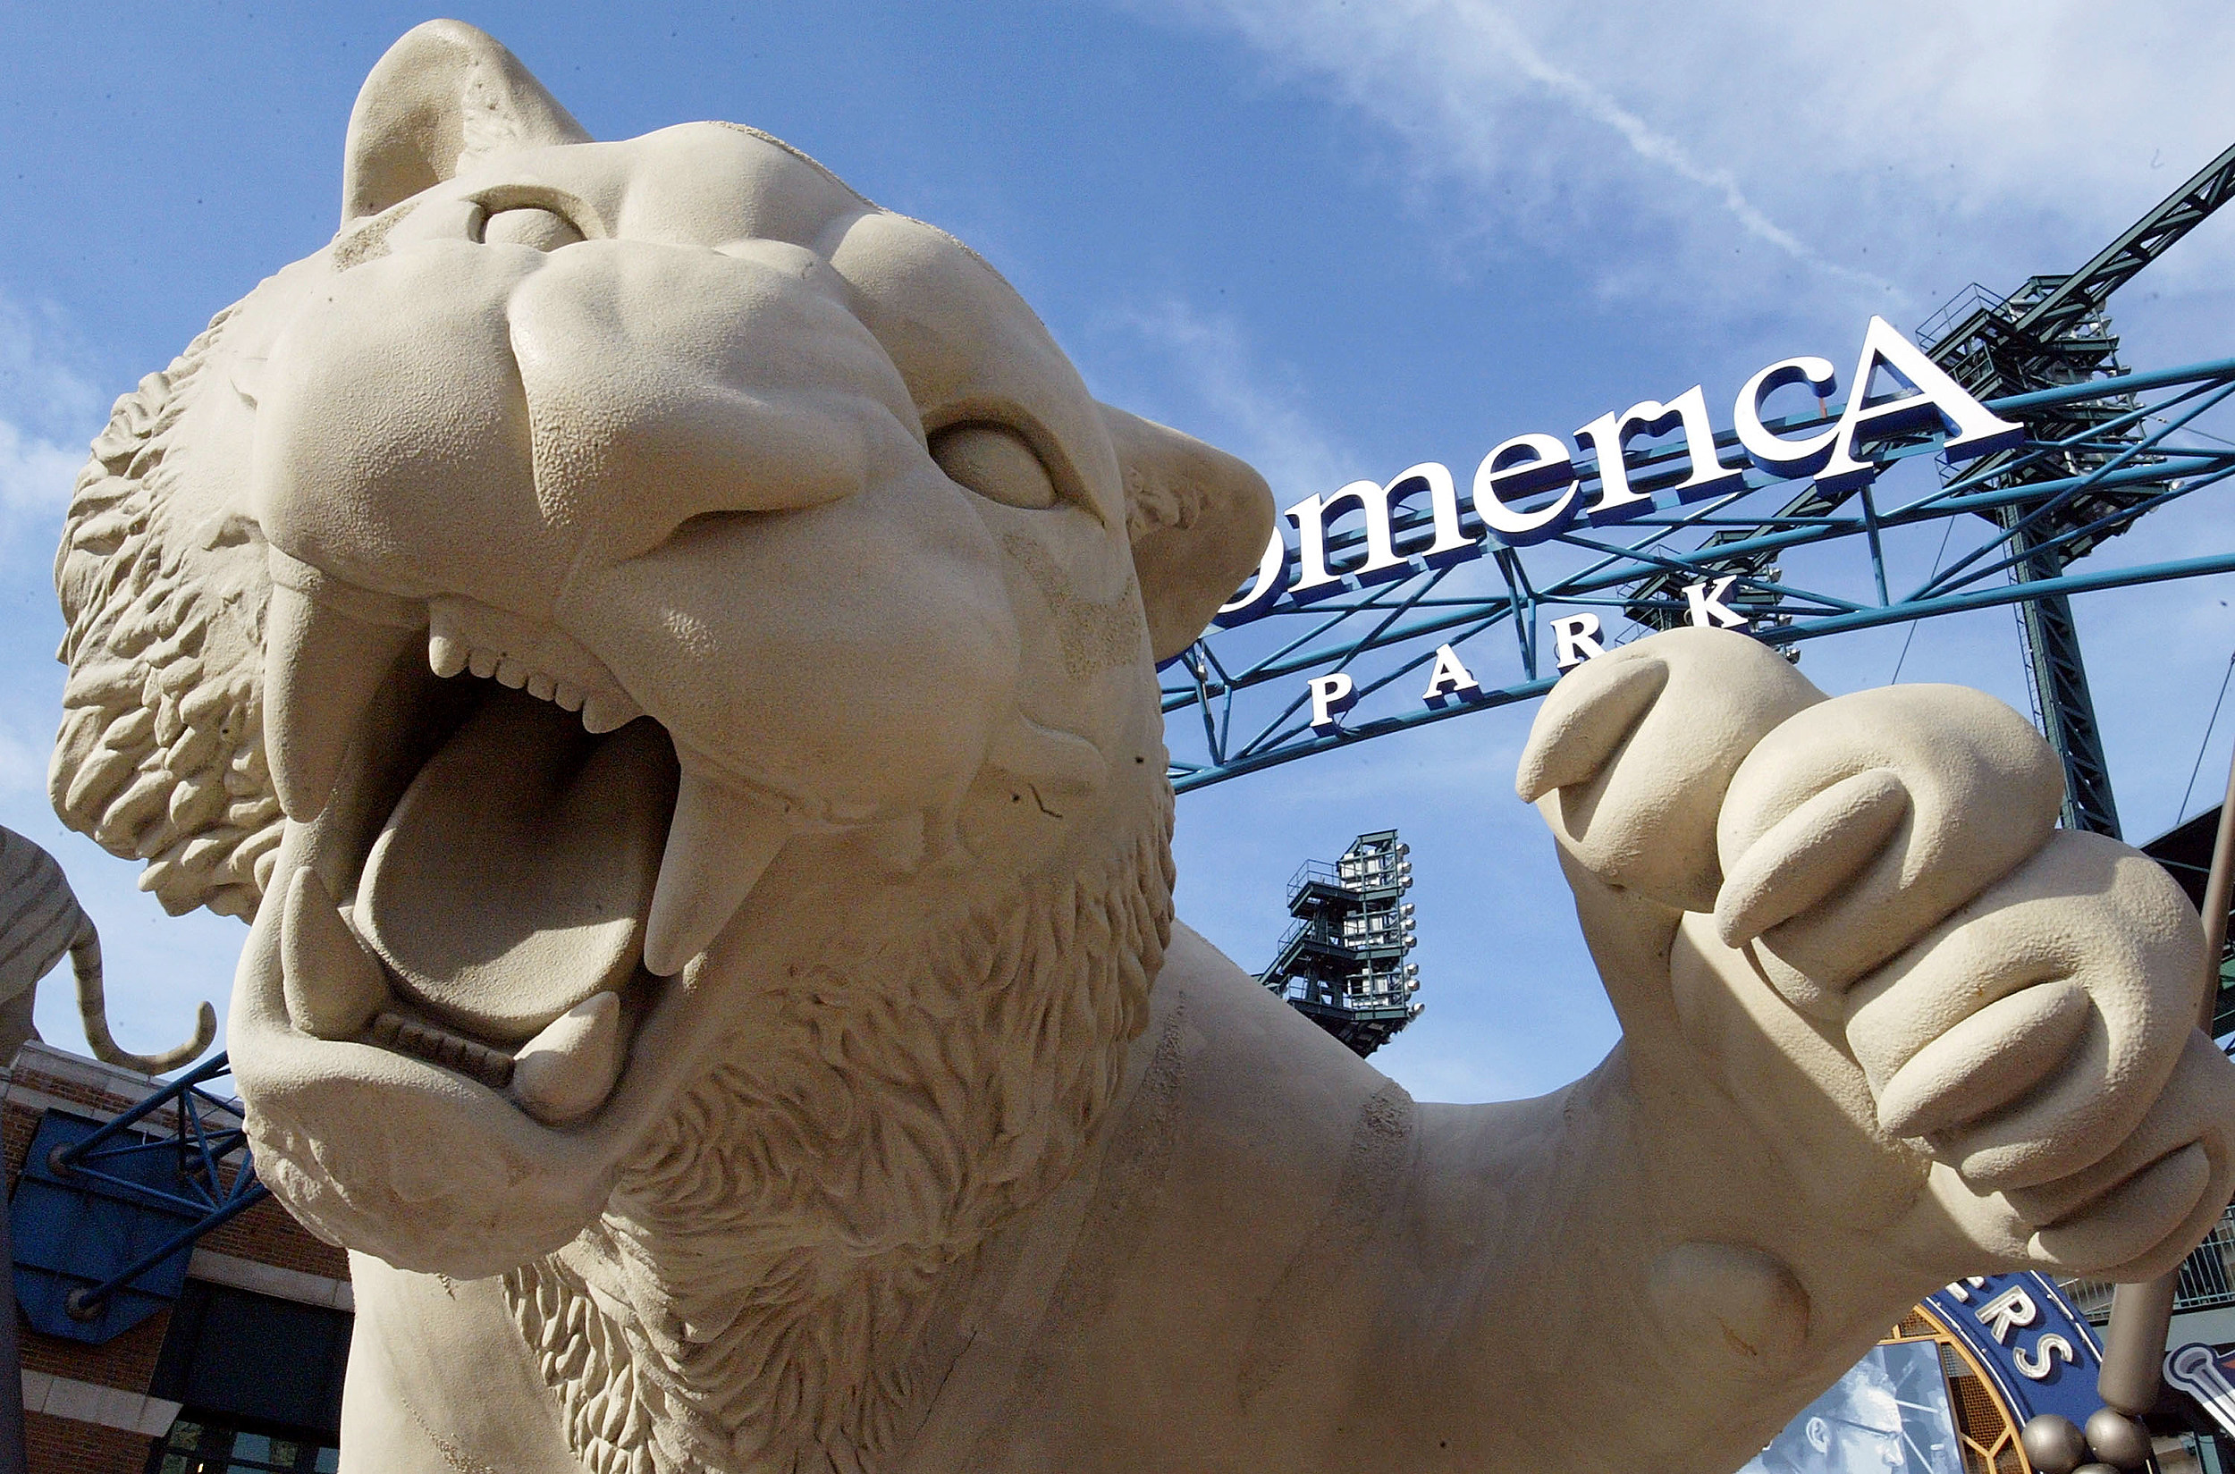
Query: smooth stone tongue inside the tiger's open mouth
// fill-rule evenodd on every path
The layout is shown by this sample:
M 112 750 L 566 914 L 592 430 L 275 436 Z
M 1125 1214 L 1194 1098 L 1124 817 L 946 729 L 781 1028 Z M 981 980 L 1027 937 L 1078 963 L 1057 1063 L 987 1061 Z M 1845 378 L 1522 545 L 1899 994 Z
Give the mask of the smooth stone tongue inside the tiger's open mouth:
M 407 994 L 519 1043 L 635 974 L 673 806 L 657 724 L 592 737 L 498 688 L 396 804 L 355 925 Z

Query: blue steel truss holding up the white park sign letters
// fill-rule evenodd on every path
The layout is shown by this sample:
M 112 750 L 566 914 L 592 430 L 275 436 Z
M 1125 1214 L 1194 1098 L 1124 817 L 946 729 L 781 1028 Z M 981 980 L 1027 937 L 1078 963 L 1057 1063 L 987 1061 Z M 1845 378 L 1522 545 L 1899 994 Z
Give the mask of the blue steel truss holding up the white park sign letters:
M 1256 773 L 1339 746 L 1527 701 L 1558 670 L 1544 650 L 1549 614 L 1594 610 L 1632 621 L 1632 634 L 1678 623 L 1687 583 L 1732 587 L 1725 603 L 1750 614 L 1775 645 L 1801 645 L 1915 619 L 1958 614 L 2049 594 L 2130 587 L 2235 570 L 2226 549 L 2170 563 L 2061 567 L 2027 578 L 2043 554 L 2063 563 L 2094 549 L 2134 518 L 2195 496 L 2235 473 L 2235 438 L 2206 427 L 2235 395 L 2235 360 L 2092 380 L 1991 400 L 2009 420 L 2036 427 L 2090 411 L 2083 427 L 2029 436 L 2007 456 L 1906 491 L 1895 465 L 1842 505 L 1795 505 L 1790 482 L 1748 471 L 1739 489 L 1690 507 L 1656 509 L 1611 529 L 1573 527 L 1533 547 L 1489 547 L 1448 567 L 1413 565 L 1392 583 L 1345 587 L 1310 605 L 1214 630 L 1164 668 L 1162 701 L 1180 791 Z M 1839 406 L 1772 422 L 1779 433 L 1837 420 Z M 1716 444 L 1737 444 L 1719 433 Z M 1882 453 L 1918 460 L 1938 438 Z M 1632 480 L 1681 458 L 1681 449 L 1632 453 Z M 1585 467 L 1589 491 L 1596 473 Z M 1424 507 L 1395 518 L 1397 545 L 1421 543 Z M 1330 565 L 1357 554 L 1363 529 L 1330 534 Z M 1920 547 L 1940 545 L 1924 563 Z M 1788 572 L 1790 570 L 1790 572 Z M 1620 639 L 1620 634 L 1616 634 Z M 1444 706 L 1421 701 L 1435 652 L 1453 645 L 1482 690 Z M 1310 724 L 1307 677 L 1345 672 L 1357 706 L 1339 730 Z M 1200 739 L 1198 739 L 1200 733 Z

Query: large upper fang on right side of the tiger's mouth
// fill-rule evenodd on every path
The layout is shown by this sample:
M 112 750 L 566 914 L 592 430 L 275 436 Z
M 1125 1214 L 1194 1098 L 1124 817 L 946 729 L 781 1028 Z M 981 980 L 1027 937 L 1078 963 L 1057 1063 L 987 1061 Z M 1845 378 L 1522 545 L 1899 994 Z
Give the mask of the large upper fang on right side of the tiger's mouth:
M 666 978 L 706 951 L 789 838 L 791 824 L 782 813 L 684 759 L 668 846 L 644 920 L 644 967 Z

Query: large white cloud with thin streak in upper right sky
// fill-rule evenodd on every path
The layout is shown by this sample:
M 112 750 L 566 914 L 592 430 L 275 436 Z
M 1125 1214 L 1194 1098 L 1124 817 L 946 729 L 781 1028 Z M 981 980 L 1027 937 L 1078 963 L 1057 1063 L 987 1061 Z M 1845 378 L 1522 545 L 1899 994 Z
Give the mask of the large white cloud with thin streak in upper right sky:
M 1826 322 L 1913 322 L 1969 277 L 2076 266 L 2235 138 L 2235 11 L 2195 2 L 1133 4 L 1359 109 L 1366 156 L 1471 201 L 1471 246 L 1558 243 L 1674 310 L 1792 284 Z M 2155 281 L 2201 286 L 2199 255 Z

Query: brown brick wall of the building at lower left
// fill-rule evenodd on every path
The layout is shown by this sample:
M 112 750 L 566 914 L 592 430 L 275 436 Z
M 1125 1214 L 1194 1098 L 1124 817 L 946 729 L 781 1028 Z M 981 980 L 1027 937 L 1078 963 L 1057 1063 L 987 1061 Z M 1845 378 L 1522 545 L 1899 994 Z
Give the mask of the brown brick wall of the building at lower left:
M 0 1164 L 9 1195 L 49 1108 L 110 1119 L 159 1081 L 29 1043 L 0 1070 Z M 152 1119 L 170 1126 L 168 1119 Z M 349 1311 L 349 1257 L 313 1240 L 277 1199 L 208 1233 L 188 1277 L 329 1311 Z M 40 1336 L 18 1313 L 25 1452 L 31 1474 L 143 1474 L 179 1403 L 150 1396 L 172 1311 L 161 1309 L 105 1344 Z

